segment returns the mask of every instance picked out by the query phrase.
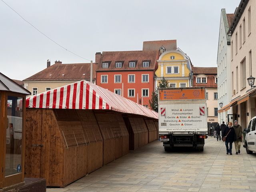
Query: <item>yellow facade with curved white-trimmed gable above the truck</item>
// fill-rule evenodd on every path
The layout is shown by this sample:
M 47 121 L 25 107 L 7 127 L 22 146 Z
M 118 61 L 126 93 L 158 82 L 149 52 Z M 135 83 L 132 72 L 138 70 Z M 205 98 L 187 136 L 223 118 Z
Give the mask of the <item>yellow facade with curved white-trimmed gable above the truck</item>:
M 155 86 L 164 77 L 169 82 L 170 87 L 182 88 L 192 86 L 192 70 L 190 58 L 179 48 L 163 52 L 158 62 L 155 72 Z

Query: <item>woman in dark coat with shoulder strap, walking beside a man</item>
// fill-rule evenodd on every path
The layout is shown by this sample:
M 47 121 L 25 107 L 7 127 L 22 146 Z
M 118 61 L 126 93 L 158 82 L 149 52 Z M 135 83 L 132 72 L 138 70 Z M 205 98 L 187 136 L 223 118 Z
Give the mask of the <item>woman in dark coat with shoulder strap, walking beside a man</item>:
M 226 137 L 226 149 L 227 149 L 227 154 L 229 153 L 232 155 L 232 144 L 234 141 L 236 141 L 236 133 L 234 128 L 232 127 L 232 122 L 228 122 L 228 126 L 224 129 L 223 136 Z M 229 144 L 229 148 L 228 148 Z

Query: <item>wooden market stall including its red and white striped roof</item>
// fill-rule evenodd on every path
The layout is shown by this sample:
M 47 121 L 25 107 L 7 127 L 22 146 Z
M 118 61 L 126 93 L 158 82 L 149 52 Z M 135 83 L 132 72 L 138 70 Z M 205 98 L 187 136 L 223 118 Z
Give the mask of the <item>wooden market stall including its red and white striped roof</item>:
M 127 154 L 123 115 L 141 122 L 147 116 L 138 104 L 84 80 L 31 96 L 26 107 L 26 176 L 60 187 Z M 146 144 L 148 130 L 141 125 Z

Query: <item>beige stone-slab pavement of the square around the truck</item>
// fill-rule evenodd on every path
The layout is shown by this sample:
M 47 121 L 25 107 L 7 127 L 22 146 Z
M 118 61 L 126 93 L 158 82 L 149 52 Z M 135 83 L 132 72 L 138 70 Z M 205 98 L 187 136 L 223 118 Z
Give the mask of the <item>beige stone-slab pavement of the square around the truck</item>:
M 47 192 L 256 192 L 256 153 L 226 154 L 224 142 L 206 139 L 204 152 L 165 152 L 154 141 L 84 176 Z

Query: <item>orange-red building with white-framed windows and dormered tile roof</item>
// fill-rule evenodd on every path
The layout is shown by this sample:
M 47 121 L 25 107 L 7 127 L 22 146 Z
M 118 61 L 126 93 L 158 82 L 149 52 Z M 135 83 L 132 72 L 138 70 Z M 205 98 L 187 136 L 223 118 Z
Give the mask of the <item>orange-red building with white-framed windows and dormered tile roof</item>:
M 158 50 L 96 53 L 96 85 L 150 107 Z

